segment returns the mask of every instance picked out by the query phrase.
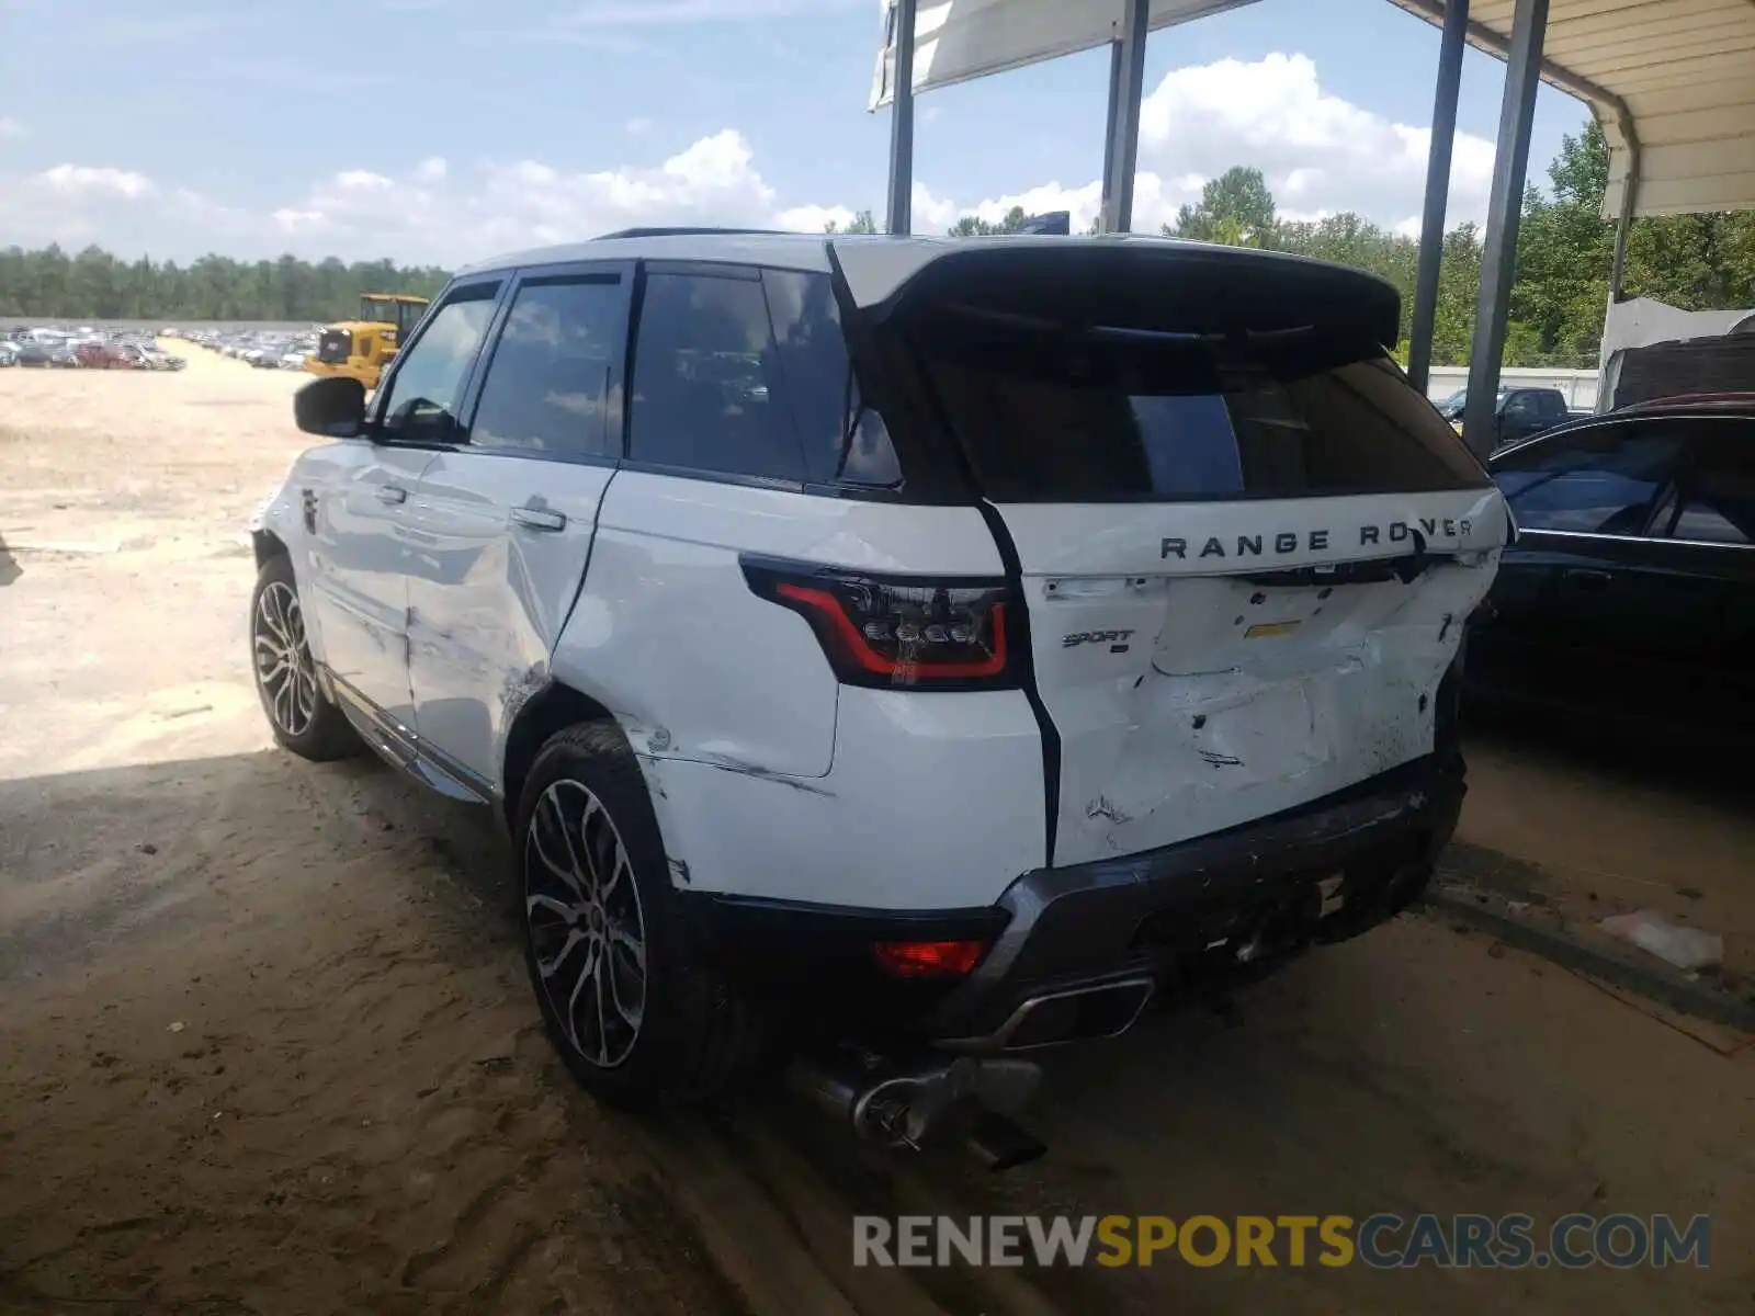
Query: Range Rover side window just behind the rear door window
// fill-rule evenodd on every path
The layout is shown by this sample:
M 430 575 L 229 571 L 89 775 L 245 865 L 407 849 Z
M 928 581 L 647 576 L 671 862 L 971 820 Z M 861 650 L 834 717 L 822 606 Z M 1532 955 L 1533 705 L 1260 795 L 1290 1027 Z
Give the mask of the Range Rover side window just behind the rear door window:
M 648 274 L 634 344 L 628 456 L 802 481 L 792 416 L 776 397 L 777 375 L 760 279 Z

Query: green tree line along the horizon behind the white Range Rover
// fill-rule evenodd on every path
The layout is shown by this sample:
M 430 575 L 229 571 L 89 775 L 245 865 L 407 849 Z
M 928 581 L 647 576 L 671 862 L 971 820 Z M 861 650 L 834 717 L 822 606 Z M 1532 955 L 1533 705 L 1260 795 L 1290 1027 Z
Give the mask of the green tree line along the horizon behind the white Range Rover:
M 1609 147 L 1595 121 L 1565 137 L 1548 167 L 1550 191 L 1529 188 L 1518 233 L 1516 284 L 1506 365 L 1597 363 L 1609 300 L 1615 225 L 1602 219 Z M 1023 207 L 999 221 L 962 216 L 951 237 L 1011 233 Z M 876 233 L 870 211 L 828 232 Z M 1402 293 L 1402 340 L 1413 316 L 1420 244 L 1353 212 L 1288 221 L 1278 216 L 1262 170 L 1237 165 L 1211 179 L 1200 200 L 1183 205 L 1172 237 L 1271 247 L 1357 265 Z M 98 247 L 67 256 L 60 247 L 0 249 L 0 314 L 49 319 L 288 319 L 332 321 L 356 312 L 360 293 L 432 297 L 446 272 L 390 260 L 346 265 L 297 256 L 239 261 L 202 256 L 176 261 L 118 260 Z M 1481 281 L 1481 235 L 1458 225 L 1444 235 L 1432 337 L 1434 365 L 1464 365 L 1474 333 Z M 1755 305 L 1755 212 L 1683 214 L 1634 221 L 1627 244 L 1627 293 L 1683 311 Z

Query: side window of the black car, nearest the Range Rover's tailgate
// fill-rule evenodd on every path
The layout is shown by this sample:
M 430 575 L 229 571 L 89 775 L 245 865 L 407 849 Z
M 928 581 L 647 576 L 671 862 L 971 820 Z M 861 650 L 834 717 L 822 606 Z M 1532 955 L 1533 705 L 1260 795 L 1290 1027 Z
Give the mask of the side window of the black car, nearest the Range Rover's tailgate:
M 1601 425 L 1516 449 L 1494 483 L 1525 530 L 1637 535 L 1680 456 L 1664 426 Z

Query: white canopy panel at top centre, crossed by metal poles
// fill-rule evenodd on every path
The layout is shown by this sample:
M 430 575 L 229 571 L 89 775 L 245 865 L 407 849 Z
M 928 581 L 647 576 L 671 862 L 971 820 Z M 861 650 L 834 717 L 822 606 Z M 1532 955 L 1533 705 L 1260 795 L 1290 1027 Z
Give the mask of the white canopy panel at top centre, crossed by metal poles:
M 1151 28 L 1255 0 L 1151 0 Z M 895 95 L 895 0 L 879 0 L 883 47 L 872 75 L 870 107 Z M 914 16 L 914 91 L 967 82 L 1074 51 L 1107 46 L 1121 35 L 1125 0 L 920 0 Z

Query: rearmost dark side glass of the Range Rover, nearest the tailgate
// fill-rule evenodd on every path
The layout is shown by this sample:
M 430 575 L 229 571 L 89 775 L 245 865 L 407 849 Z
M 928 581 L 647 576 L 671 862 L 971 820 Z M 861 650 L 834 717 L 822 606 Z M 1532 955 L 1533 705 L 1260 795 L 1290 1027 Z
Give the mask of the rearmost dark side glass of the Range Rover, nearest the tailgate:
M 827 274 L 763 270 L 774 351 L 814 484 L 893 488 L 902 479 L 883 416 L 860 397 Z

